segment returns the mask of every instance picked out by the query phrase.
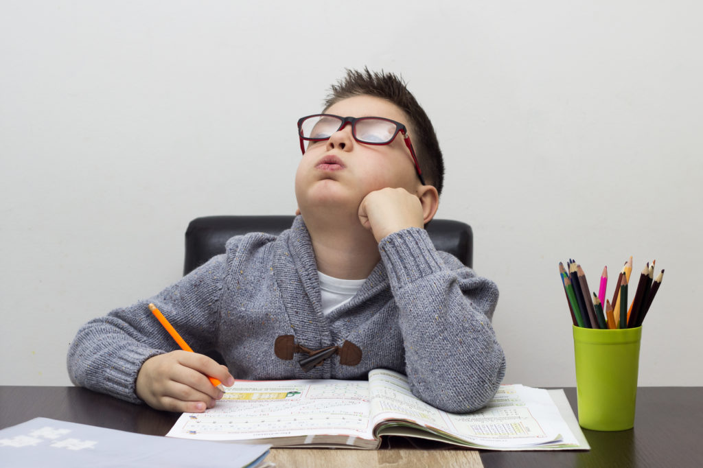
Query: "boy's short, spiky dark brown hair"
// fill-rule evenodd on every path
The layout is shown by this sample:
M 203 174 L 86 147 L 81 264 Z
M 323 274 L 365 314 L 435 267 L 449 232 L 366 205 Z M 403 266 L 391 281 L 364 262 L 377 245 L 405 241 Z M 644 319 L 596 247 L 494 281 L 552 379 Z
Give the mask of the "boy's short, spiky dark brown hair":
M 330 86 L 330 91 L 325 100 L 325 110 L 340 100 L 353 96 L 375 96 L 400 108 L 410 119 L 408 125 L 415 131 L 411 141 L 425 181 L 441 193 L 444 185 L 444 161 L 437 135 L 430 118 L 415 100 L 415 96 L 408 91 L 407 84 L 401 77 L 383 70 L 370 72 L 368 67 L 364 67 L 363 72 L 347 69 L 347 75 Z

